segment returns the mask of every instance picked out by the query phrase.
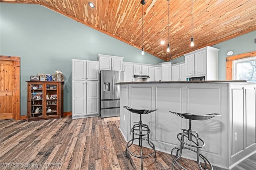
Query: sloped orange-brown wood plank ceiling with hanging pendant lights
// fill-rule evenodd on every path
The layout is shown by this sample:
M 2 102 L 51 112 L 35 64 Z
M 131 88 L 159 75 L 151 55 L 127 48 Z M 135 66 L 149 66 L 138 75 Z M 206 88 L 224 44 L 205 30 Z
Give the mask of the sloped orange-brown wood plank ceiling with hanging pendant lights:
M 40 4 L 139 49 L 142 48 L 140 0 L 0 0 Z M 90 8 L 93 2 L 95 8 Z M 190 47 L 191 0 L 146 0 L 144 51 L 169 61 L 185 53 L 256 30 L 256 0 L 193 0 L 194 47 Z M 165 43 L 160 44 L 161 41 Z

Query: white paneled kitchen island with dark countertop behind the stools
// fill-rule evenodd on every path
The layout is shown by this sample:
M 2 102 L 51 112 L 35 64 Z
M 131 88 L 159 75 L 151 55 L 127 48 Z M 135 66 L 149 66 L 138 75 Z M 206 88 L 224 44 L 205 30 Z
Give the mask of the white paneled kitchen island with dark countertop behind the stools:
M 177 134 L 188 129 L 187 119 L 169 111 L 205 115 L 220 113 L 206 121 L 192 121 L 192 130 L 205 142 L 201 153 L 214 166 L 230 169 L 256 153 L 256 83 L 247 81 L 122 82 L 120 131 L 126 141 L 139 115 L 123 106 L 158 111 L 142 115 L 151 130 L 156 150 L 170 153 L 179 145 Z M 182 157 L 196 160 L 194 152 Z M 172 160 L 170 160 L 172 161 Z

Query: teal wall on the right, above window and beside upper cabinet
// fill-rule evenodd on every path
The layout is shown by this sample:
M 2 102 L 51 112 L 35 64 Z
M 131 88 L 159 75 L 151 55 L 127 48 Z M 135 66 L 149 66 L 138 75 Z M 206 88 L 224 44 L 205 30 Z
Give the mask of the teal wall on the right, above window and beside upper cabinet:
M 242 53 L 248 53 L 251 51 L 256 51 L 256 43 L 254 39 L 256 38 L 256 31 L 232 38 L 222 43 L 212 45 L 212 47 L 220 49 L 218 51 L 218 79 L 226 79 L 226 57 L 228 51 L 233 51 L 233 55 L 238 55 Z M 194 39 L 195 40 L 195 39 Z M 196 40 L 194 41 L 196 43 Z M 231 55 L 231 56 L 233 56 Z M 185 61 L 185 56 L 178 57 L 171 60 L 173 62 L 182 62 Z

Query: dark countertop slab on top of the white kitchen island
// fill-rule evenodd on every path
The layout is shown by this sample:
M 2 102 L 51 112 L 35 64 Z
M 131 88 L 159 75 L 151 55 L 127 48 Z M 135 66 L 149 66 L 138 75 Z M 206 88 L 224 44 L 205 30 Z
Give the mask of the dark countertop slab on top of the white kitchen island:
M 116 83 L 116 85 L 123 84 L 142 84 L 142 83 L 253 83 L 256 82 L 246 80 L 207 80 L 207 81 L 128 81 Z

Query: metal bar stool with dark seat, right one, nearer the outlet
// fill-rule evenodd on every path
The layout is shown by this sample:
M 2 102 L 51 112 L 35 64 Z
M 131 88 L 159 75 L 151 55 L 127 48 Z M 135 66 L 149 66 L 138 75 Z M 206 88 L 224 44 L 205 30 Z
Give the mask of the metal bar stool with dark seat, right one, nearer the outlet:
M 178 117 L 181 117 L 184 119 L 189 119 L 189 129 L 188 130 L 182 129 L 182 133 L 177 134 L 177 138 L 180 141 L 180 146 L 177 146 L 172 149 L 171 156 L 172 156 L 172 159 L 174 160 L 174 162 L 172 163 L 172 170 L 174 168 L 174 164 L 178 164 L 178 166 L 180 166 L 184 170 L 187 170 L 178 162 L 178 160 L 182 156 L 182 149 L 188 149 L 193 152 L 196 152 L 196 160 L 197 160 L 197 164 L 198 164 L 200 170 L 203 170 L 203 168 L 200 164 L 200 161 L 199 161 L 200 158 L 202 158 L 202 160 L 204 160 L 204 170 L 207 170 L 207 162 L 210 165 L 210 168 L 212 170 L 213 168 L 212 168 L 212 164 L 210 163 L 210 161 L 205 156 L 200 154 L 200 152 L 199 152 L 199 149 L 204 147 L 205 143 L 201 138 L 199 138 L 199 135 L 197 132 L 192 131 L 191 121 L 192 120 L 204 121 L 207 119 L 211 119 L 212 117 L 221 116 L 221 115 L 217 114 L 217 113 L 212 113 L 212 114 L 207 114 L 207 115 L 194 115 L 191 113 L 176 113 L 176 112 L 172 112 L 172 111 L 169 111 L 169 112 L 177 115 Z M 187 138 L 189 140 L 189 142 L 184 142 L 184 138 Z M 196 150 L 194 150 L 192 148 L 185 147 L 184 144 L 187 146 L 196 148 Z M 176 150 L 176 158 L 172 154 L 174 152 L 174 150 Z M 180 154 L 178 154 L 179 152 L 180 152 Z

